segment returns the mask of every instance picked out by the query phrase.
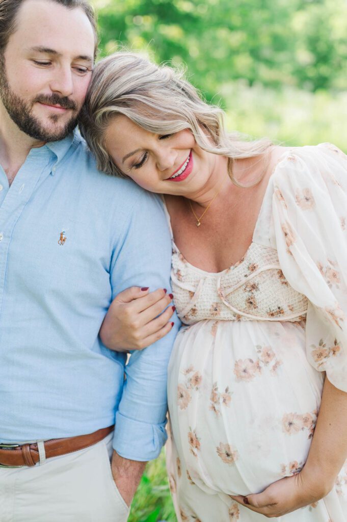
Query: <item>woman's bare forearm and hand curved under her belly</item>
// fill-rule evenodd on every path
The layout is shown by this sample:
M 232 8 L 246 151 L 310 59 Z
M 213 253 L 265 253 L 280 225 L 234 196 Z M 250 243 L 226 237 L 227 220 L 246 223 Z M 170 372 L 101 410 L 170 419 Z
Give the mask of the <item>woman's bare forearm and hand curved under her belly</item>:
M 233 499 L 268 518 L 280 517 L 326 496 L 346 458 L 347 393 L 326 378 L 312 445 L 301 472 L 274 482 L 262 493 Z

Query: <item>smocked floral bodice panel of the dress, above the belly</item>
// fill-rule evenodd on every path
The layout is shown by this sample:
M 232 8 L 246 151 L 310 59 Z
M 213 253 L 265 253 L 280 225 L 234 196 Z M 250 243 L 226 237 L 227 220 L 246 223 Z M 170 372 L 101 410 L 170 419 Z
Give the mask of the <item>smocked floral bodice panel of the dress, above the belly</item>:
M 301 321 L 307 299 L 284 278 L 277 251 L 252 243 L 240 262 L 219 274 L 190 265 L 173 243 L 172 289 L 181 321 Z

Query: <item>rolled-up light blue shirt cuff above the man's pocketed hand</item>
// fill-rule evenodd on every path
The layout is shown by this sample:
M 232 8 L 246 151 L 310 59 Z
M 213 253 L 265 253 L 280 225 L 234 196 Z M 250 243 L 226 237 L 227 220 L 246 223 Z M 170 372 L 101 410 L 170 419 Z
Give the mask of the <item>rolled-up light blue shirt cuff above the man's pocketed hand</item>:
M 146 462 L 157 458 L 166 442 L 165 422 L 147 424 L 124 417 L 117 411 L 113 448 L 118 455 Z

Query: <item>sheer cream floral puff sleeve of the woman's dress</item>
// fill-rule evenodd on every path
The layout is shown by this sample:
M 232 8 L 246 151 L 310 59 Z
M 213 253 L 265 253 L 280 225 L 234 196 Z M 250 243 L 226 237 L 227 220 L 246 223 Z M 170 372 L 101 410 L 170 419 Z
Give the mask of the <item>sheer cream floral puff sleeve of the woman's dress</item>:
M 272 181 L 280 265 L 309 300 L 307 358 L 347 392 L 347 157 L 330 144 L 293 149 Z

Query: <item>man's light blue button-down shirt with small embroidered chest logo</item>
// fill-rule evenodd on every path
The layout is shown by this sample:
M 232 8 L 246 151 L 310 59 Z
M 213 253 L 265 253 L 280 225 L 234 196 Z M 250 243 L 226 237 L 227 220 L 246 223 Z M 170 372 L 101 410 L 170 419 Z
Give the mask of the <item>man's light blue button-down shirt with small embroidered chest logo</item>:
M 158 456 L 178 321 L 126 366 L 98 332 L 125 288 L 169 289 L 170 263 L 159 198 L 98 172 L 77 132 L 32 149 L 10 187 L 0 167 L 0 441 L 116 422 L 120 455 Z

